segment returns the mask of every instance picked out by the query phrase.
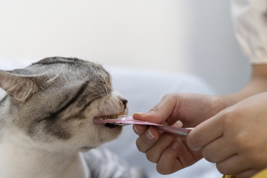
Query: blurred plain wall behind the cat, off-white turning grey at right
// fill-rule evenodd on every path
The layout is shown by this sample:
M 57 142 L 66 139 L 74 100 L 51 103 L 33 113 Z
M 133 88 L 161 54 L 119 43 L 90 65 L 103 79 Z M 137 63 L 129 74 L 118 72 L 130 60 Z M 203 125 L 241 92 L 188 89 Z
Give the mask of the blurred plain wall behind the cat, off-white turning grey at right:
M 228 0 L 1 0 L 0 56 L 189 73 L 219 94 L 250 76 Z

